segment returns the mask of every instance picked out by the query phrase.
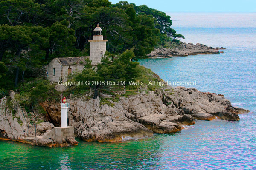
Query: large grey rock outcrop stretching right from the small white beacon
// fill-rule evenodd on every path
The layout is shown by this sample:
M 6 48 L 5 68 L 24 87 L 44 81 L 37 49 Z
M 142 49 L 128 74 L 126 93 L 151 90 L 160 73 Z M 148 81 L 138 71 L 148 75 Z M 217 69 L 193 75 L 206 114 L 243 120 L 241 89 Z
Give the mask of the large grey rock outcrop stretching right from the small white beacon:
M 234 108 L 224 96 L 184 87 L 168 86 L 108 101 L 112 105 L 101 104 L 100 98 L 86 100 L 85 96 L 67 101 L 70 103 L 69 125 L 75 127 L 79 138 L 118 142 L 127 136 L 140 138 L 153 133 L 174 133 L 184 125 L 194 124 L 195 119 L 235 121 L 239 120 L 238 113 L 246 112 Z M 59 107 L 53 108 L 55 104 L 41 105 L 49 117 L 60 115 Z

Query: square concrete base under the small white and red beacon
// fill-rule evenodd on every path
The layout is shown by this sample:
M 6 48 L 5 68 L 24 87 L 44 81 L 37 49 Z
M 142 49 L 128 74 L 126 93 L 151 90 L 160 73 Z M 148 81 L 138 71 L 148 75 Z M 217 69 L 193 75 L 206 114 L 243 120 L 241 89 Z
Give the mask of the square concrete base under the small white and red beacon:
M 66 139 L 67 136 L 75 139 L 75 129 L 72 126 L 68 127 L 54 127 L 54 138 L 58 143 L 62 143 L 62 139 Z

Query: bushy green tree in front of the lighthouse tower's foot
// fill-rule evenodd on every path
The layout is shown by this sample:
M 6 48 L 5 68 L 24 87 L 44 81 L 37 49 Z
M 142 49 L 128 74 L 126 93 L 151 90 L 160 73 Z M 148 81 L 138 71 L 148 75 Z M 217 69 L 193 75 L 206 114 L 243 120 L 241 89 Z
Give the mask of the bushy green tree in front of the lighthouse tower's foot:
M 138 75 L 136 69 L 138 62 L 132 62 L 131 59 L 134 57 L 134 49 L 126 50 L 118 58 L 111 61 L 109 56 L 102 58 L 101 63 L 97 65 L 97 70 L 92 68 L 90 61 L 85 64 L 85 69 L 82 73 L 76 75 L 76 81 L 89 81 L 90 88 L 94 89 L 94 98 L 98 96 L 98 89 L 107 85 L 107 81 L 120 82 L 134 80 Z M 86 88 L 86 86 L 79 86 Z

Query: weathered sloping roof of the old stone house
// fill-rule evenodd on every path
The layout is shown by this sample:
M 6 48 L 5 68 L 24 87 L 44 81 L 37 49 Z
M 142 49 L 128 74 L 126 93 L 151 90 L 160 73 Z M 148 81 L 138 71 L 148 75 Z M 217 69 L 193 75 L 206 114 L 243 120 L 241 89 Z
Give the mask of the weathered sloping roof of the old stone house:
M 81 56 L 81 57 L 58 57 L 56 58 L 61 65 L 84 65 L 85 59 L 89 58 L 89 56 Z

